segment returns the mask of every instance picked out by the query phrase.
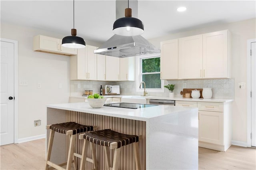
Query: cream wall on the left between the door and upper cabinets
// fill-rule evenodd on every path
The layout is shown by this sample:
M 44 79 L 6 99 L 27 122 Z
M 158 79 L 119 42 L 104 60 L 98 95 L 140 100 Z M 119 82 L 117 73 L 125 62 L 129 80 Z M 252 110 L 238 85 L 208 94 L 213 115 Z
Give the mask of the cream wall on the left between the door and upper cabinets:
M 60 39 L 67 36 L 1 22 L 1 38 L 18 40 L 18 80 L 28 81 L 28 86 L 18 86 L 18 141 L 44 135 L 46 105 L 68 103 L 70 95 L 70 57 L 33 51 L 33 37 L 38 34 Z M 41 83 L 41 89 L 37 83 Z M 34 127 L 38 119 L 42 125 Z

